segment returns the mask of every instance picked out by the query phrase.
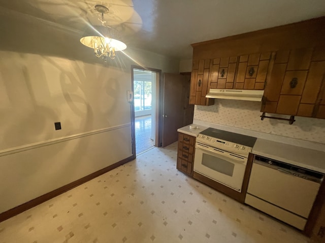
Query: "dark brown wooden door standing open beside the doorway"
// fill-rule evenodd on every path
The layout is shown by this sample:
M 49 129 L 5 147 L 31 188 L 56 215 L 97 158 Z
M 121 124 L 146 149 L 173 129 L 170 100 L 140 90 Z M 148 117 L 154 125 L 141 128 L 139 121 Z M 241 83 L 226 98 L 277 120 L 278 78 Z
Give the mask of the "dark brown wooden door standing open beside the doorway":
M 188 109 L 194 110 L 194 105 L 188 105 L 188 77 L 173 73 L 163 75 L 163 131 L 162 146 L 165 147 L 178 140 L 177 129 L 192 123 L 185 118 Z

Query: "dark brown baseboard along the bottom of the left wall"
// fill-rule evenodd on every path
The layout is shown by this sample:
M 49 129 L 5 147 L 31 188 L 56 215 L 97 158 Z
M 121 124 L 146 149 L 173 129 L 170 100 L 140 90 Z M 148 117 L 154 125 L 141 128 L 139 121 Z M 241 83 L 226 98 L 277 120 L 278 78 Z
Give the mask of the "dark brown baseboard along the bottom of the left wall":
M 0 222 L 5 221 L 6 219 L 9 219 L 9 218 L 11 218 L 11 217 L 13 217 L 15 215 L 18 215 L 18 214 L 20 214 L 20 213 L 22 213 L 22 212 L 24 212 L 24 211 L 26 211 L 28 209 L 31 209 L 31 208 L 33 208 L 35 206 L 38 206 L 38 205 L 44 203 L 45 201 L 47 201 L 47 200 L 49 200 L 49 199 L 51 199 L 53 197 L 56 197 L 56 196 L 66 192 L 66 191 L 69 191 L 69 190 L 71 190 L 72 188 L 74 188 L 76 186 L 79 186 L 79 185 L 81 185 L 81 184 L 83 184 L 83 183 L 85 183 L 87 181 L 92 180 L 93 178 L 96 178 L 96 177 L 98 177 L 100 175 L 103 175 L 103 174 L 105 174 L 105 173 L 107 173 L 107 172 L 109 172 L 109 171 L 111 171 L 111 170 L 113 170 L 113 169 L 115 169 L 115 168 L 117 168 L 117 167 L 119 167 L 121 165 L 124 165 L 125 163 L 127 163 L 129 161 L 132 161 L 133 159 L 134 159 L 133 156 L 127 157 L 127 158 L 125 158 L 123 160 L 120 160 L 117 163 L 115 163 L 113 165 L 110 165 L 110 166 L 108 166 L 108 167 L 106 167 L 104 169 L 101 169 L 99 171 L 91 173 L 88 176 L 80 178 L 80 179 L 78 179 L 78 180 L 76 180 L 74 182 L 71 182 L 71 183 L 67 184 L 67 185 L 61 186 L 61 187 L 59 187 L 59 188 L 57 188 L 57 189 L 55 189 L 53 191 L 50 191 L 50 192 L 48 192 L 48 193 L 46 193 L 46 194 L 44 194 L 42 196 L 39 196 L 39 197 L 34 198 L 34 199 L 30 200 L 30 201 L 27 201 L 26 203 L 24 203 L 22 205 L 19 205 L 19 206 L 13 208 L 13 209 L 10 209 L 10 210 L 8 210 L 6 212 L 3 212 L 3 213 L 0 214 Z

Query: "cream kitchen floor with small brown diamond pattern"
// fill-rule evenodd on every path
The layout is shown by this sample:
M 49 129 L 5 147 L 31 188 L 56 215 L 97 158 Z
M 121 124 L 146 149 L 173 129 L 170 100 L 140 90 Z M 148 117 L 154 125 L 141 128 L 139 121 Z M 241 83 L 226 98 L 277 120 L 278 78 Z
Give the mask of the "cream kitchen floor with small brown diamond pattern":
M 176 170 L 177 143 L 0 223 L 0 242 L 309 242 Z

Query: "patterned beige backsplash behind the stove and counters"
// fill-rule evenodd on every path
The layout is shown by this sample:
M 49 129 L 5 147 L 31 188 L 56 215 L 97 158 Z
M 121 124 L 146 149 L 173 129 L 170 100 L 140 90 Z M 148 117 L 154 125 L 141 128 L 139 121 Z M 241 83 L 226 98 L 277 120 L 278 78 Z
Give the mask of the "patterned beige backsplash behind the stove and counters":
M 261 120 L 260 108 L 261 102 L 216 99 L 212 106 L 196 105 L 193 118 L 208 123 L 325 144 L 325 119 L 295 116 L 295 123 L 289 125 L 288 121 L 284 120 L 268 118 Z

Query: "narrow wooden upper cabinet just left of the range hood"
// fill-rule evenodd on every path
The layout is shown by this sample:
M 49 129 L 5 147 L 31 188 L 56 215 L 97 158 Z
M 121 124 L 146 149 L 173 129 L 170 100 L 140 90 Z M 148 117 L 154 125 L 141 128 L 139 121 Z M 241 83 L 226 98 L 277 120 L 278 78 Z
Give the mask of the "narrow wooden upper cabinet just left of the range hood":
M 205 98 L 209 92 L 210 59 L 193 60 L 189 104 L 213 105 L 214 99 Z

